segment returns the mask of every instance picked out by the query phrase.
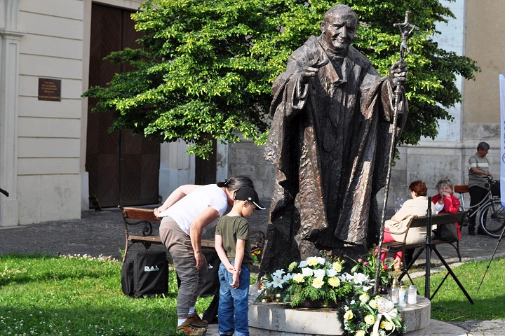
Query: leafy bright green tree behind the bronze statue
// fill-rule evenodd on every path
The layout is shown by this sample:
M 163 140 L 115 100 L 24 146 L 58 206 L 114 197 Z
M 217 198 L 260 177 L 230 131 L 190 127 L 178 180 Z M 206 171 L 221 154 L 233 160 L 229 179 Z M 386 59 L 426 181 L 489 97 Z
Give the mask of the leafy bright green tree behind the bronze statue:
M 436 137 L 438 119 L 461 101 L 457 75 L 478 71 L 469 57 L 438 48 L 437 22 L 452 18 L 438 0 L 344 0 L 361 20 L 354 46 L 386 76 L 399 58 L 395 22 L 405 10 L 417 31 L 409 40 L 410 115 L 400 144 Z M 148 0 L 133 15 L 144 36 L 141 48 L 112 52 L 112 62 L 132 71 L 116 73 L 107 87 L 84 94 L 97 98 L 94 111 L 114 111 L 111 129 L 129 128 L 159 141 L 182 139 L 189 153 L 206 157 L 210 138 L 264 144 L 271 84 L 286 60 L 335 3 L 326 0 Z

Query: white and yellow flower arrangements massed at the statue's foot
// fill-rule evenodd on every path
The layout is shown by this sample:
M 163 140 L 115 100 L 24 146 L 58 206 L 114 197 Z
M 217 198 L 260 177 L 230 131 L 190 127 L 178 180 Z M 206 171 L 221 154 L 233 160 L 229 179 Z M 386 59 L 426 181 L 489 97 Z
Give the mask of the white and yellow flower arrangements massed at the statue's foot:
M 291 262 L 287 272 L 283 268 L 264 276 L 257 300 L 281 302 L 290 307 L 300 307 L 305 302 L 339 307 L 344 335 L 403 335 L 406 327 L 393 302 L 379 295 L 370 298 L 377 266 L 374 248 L 358 260 L 346 258 L 354 266 L 324 251 L 322 255 Z M 389 283 L 391 276 L 387 271 L 393 265 L 391 260 L 382 262 L 379 281 Z M 351 267 L 351 271 L 344 272 L 346 267 Z

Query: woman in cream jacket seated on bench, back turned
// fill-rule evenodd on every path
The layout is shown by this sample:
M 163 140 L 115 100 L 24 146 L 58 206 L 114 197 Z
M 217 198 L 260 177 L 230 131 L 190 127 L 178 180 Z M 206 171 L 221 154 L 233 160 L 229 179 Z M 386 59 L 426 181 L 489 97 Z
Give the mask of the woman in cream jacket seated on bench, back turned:
M 426 238 L 426 228 L 411 228 L 408 233 L 406 231 L 412 216 L 426 216 L 428 211 L 428 197 L 426 197 L 428 188 L 426 188 L 426 183 L 423 181 L 414 181 L 410 183 L 409 189 L 412 200 L 405 201 L 400 210 L 384 225 L 384 239 L 382 241 L 385 243 L 405 240 L 406 244 L 417 244 Z M 435 204 L 430 203 L 430 206 L 434 214 Z M 405 234 L 407 234 L 407 237 L 405 237 Z M 385 257 L 386 254 L 383 253 L 382 258 Z M 402 264 L 403 253 L 398 251 L 394 257 L 396 260 L 394 269 L 398 270 Z

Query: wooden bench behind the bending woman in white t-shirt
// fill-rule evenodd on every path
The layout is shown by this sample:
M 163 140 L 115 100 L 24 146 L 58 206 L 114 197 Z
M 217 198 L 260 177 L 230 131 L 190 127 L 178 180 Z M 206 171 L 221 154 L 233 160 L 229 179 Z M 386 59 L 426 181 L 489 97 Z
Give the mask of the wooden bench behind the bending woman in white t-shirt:
M 123 262 L 126 260 L 126 254 L 128 253 L 128 248 L 133 244 L 140 243 L 144 245 L 146 250 L 149 250 L 152 244 L 163 245 L 160 240 L 159 234 L 153 234 L 153 223 L 159 223 L 161 218 L 154 215 L 154 209 L 144 209 L 136 207 L 121 207 L 121 214 L 123 215 L 123 223 L 125 226 L 125 251 L 123 256 Z M 137 232 L 140 235 L 133 235 L 130 232 L 130 227 L 139 226 Z M 257 251 L 262 252 L 264 248 L 265 235 L 264 232 L 260 230 L 255 230 L 249 232 L 251 239 L 251 253 Z M 215 242 L 213 240 L 202 239 L 202 247 L 215 247 Z

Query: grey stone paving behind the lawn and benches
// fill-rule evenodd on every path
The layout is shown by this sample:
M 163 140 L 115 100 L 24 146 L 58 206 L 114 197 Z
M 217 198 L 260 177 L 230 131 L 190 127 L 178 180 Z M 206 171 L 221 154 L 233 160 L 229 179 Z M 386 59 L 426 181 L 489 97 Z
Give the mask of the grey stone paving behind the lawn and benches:
M 267 202 L 265 202 L 267 203 Z M 249 219 L 253 230 L 267 228 L 268 211 L 255 211 Z M 83 211 L 80 220 L 49 221 L 28 226 L 14 228 L 0 228 L 0 254 L 4 253 L 49 253 L 58 254 L 88 254 L 93 256 L 111 255 L 121 258 L 121 249 L 124 249 L 124 226 L 119 209 L 104 209 L 103 211 Z M 204 238 L 212 239 L 213 230 L 204 235 Z M 464 235 L 459 242 L 463 261 L 489 260 L 498 239 L 487 236 Z M 140 249 L 140 244 L 135 244 L 132 250 Z M 442 255 L 451 265 L 457 265 L 457 253 L 448 244 L 438 246 Z M 163 246 L 152 246 L 152 249 L 161 249 Z M 498 245 L 496 257 L 505 255 L 505 242 Z M 424 255 L 418 260 L 419 264 L 425 263 Z M 441 266 L 436 255 L 432 262 Z M 490 271 L 493 269 L 490 267 Z M 480 276 L 480 275 L 479 275 Z M 479 279 L 480 282 L 480 279 Z M 484 285 L 485 286 L 485 283 Z M 467 288 L 468 289 L 468 288 Z M 473 297 L 476 300 L 476 297 Z M 466 321 L 453 323 L 463 328 L 469 336 L 505 335 L 505 321 Z

